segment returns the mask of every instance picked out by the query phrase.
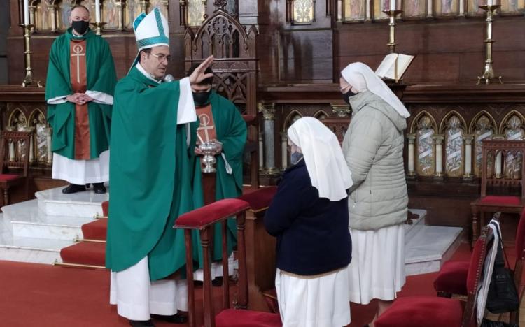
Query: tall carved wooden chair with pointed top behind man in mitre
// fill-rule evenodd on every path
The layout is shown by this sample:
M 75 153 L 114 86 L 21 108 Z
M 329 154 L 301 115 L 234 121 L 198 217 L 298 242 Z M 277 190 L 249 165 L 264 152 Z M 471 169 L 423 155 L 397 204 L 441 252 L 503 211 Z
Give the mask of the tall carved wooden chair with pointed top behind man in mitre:
M 213 54 L 214 89 L 241 108 L 248 125 L 244 151 L 250 154 L 250 184 L 254 188 L 259 187 L 257 34 L 255 25 L 246 29 L 222 8 L 204 20 L 197 31 L 188 28 L 184 34 L 186 71 Z

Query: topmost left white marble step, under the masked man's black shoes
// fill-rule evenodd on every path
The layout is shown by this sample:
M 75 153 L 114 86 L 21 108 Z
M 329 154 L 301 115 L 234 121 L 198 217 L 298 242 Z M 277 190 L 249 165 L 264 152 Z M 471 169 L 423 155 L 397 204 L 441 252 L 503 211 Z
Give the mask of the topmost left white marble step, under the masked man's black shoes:
M 65 217 L 94 217 L 102 215 L 102 202 L 109 200 L 108 192 L 95 194 L 92 189 L 73 194 L 62 194 L 64 187 L 35 193 L 38 206 L 45 215 Z

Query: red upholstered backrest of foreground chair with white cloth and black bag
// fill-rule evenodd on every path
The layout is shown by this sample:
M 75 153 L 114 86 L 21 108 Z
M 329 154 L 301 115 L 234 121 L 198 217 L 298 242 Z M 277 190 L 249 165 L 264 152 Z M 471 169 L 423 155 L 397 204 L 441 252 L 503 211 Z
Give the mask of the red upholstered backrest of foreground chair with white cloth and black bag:
M 486 259 L 486 246 L 491 238 L 493 238 L 492 229 L 484 226 L 482 235 L 476 240 L 472 250 L 467 274 L 467 303 L 463 311 L 463 322 L 461 324 L 463 327 L 476 326 L 477 289 Z

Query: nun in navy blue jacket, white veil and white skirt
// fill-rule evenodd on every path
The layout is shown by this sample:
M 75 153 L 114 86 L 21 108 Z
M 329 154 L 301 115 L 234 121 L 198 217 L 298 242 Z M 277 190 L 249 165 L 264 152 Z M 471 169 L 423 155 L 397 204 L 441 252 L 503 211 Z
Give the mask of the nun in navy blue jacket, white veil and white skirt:
M 268 233 L 277 238 L 281 320 L 286 327 L 346 326 L 351 173 L 335 134 L 317 119 L 297 120 L 288 140 L 292 166 L 265 215 Z

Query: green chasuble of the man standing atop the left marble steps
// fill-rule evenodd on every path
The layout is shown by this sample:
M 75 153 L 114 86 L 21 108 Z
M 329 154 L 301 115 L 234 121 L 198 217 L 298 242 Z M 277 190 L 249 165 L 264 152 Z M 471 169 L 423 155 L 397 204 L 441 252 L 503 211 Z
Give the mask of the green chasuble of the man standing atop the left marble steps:
M 88 30 L 83 36 L 73 36 L 72 29 L 53 42 L 49 54 L 48 78 L 45 82 L 45 101 L 73 94 L 70 81 L 69 43 L 72 38 L 86 41 L 87 89 L 113 95 L 117 82 L 109 44 Z M 88 103 L 90 123 L 90 158 L 99 157 L 109 149 L 111 106 Z M 48 104 L 48 122 L 52 127 L 52 152 L 75 159 L 75 104 Z

